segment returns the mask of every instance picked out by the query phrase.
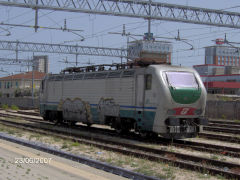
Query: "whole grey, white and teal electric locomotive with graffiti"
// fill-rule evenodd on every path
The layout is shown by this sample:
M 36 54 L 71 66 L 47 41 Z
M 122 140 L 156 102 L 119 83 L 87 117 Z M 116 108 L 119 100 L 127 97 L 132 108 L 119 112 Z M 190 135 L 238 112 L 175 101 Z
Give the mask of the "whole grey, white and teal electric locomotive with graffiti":
M 45 120 L 167 138 L 195 137 L 207 123 L 205 106 L 198 73 L 170 65 L 48 75 L 40 92 Z

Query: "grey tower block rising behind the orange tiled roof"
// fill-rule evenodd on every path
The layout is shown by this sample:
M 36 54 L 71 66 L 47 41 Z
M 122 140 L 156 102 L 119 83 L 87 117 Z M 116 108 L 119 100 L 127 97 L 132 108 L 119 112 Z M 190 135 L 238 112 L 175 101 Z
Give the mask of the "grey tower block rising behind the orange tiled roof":
M 48 73 L 48 56 L 33 56 L 33 71 Z

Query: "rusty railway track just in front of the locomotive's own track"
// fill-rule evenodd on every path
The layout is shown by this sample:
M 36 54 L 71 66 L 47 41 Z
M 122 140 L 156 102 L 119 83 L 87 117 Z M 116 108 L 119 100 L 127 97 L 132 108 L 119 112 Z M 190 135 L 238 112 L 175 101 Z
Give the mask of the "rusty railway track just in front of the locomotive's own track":
M 150 161 L 161 161 L 170 163 L 175 166 L 195 170 L 199 172 L 208 171 L 212 175 L 223 175 L 227 178 L 240 178 L 240 164 L 229 163 L 219 160 L 213 160 L 204 157 L 198 157 L 193 155 L 186 155 L 177 152 L 170 152 L 162 149 L 153 149 L 143 147 L 139 145 L 133 145 L 129 143 L 123 143 L 115 140 L 106 140 L 99 137 L 87 137 L 79 134 L 75 134 L 69 131 L 60 131 L 56 128 L 43 128 L 36 127 L 30 124 L 21 124 L 12 121 L 1 120 L 4 125 L 9 125 L 16 128 L 22 128 L 28 131 L 37 132 L 46 135 L 52 135 L 74 142 L 93 145 L 105 150 L 118 152 L 125 155 L 131 155 L 138 158 L 145 158 Z M 64 134 L 64 135 L 63 135 Z

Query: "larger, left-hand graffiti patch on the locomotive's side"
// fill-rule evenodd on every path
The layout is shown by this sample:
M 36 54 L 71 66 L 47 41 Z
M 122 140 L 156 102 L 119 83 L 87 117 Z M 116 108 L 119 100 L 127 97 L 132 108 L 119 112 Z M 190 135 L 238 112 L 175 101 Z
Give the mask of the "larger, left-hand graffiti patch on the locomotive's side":
M 91 122 L 90 105 L 80 98 L 66 99 L 59 107 L 62 108 L 63 118 L 69 121 Z

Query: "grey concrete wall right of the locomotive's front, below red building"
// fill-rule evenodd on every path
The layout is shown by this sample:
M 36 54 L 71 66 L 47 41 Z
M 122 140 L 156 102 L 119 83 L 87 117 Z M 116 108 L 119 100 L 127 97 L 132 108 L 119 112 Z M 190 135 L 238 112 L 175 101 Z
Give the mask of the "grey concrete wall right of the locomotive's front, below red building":
M 240 119 L 240 101 L 208 101 L 206 116 L 209 118 Z

